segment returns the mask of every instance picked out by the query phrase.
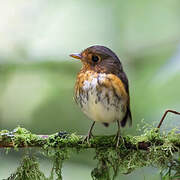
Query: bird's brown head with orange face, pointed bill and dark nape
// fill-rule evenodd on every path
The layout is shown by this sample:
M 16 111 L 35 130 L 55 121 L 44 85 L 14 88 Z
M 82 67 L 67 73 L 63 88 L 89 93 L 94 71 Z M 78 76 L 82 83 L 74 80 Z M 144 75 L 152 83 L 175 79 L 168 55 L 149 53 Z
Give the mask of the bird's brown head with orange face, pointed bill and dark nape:
M 80 59 L 83 63 L 82 71 L 93 70 L 97 73 L 114 74 L 124 83 L 126 91 L 128 89 L 128 79 L 123 71 L 122 64 L 116 54 L 105 46 L 95 45 L 88 47 L 81 53 L 70 55 Z

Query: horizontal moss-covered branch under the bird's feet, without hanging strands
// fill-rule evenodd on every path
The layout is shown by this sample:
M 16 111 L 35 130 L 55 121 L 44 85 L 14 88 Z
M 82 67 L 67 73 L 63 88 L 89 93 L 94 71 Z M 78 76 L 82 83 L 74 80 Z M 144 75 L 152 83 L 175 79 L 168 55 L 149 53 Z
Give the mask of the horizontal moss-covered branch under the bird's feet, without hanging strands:
M 169 141 L 173 137 L 173 141 Z M 84 142 L 85 136 L 59 132 L 53 135 L 36 135 L 24 128 L 16 128 L 12 132 L 0 132 L 0 148 L 28 148 L 28 147 L 68 147 L 68 148 L 116 148 L 114 136 L 94 136 L 90 144 Z M 120 145 L 132 150 L 149 150 L 154 145 L 164 146 L 171 143 L 176 150 L 180 150 L 180 135 L 174 131 L 168 135 L 161 135 L 158 128 L 152 129 L 140 136 L 122 136 Z M 167 142 L 168 141 L 168 142 Z

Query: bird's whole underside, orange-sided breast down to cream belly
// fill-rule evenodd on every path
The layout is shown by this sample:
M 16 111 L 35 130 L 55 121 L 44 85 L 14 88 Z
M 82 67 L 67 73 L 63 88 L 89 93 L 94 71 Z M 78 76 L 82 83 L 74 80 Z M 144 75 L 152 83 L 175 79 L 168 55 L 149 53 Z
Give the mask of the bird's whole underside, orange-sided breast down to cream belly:
M 75 100 L 92 120 L 110 123 L 124 118 L 128 94 L 116 75 L 86 71 L 78 74 Z

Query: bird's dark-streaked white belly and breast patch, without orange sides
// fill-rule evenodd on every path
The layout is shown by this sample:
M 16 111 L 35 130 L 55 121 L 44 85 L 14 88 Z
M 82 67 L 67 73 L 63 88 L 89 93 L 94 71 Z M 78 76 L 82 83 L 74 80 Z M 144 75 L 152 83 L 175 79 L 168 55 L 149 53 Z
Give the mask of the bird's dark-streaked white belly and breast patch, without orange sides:
M 94 121 L 102 123 L 121 121 L 126 112 L 125 101 L 121 97 L 115 96 L 113 90 L 101 86 L 104 78 L 106 78 L 106 74 L 100 74 L 91 81 L 84 81 L 82 87 L 84 93 L 80 98 L 80 107 Z M 98 90 L 99 86 L 101 86 L 101 91 Z

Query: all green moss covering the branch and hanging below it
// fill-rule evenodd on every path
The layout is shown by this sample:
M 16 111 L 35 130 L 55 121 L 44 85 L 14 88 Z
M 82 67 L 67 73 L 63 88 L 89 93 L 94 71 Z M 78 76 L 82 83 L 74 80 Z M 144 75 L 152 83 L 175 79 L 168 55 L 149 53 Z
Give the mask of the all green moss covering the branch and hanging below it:
M 48 178 L 39 170 L 37 160 L 27 156 L 11 177 L 32 177 L 34 173 L 34 177 L 40 174 L 44 179 L 61 180 L 63 162 L 69 159 L 71 153 L 87 148 L 95 149 L 97 165 L 91 173 L 94 180 L 115 179 L 118 173 L 128 174 L 145 166 L 159 168 L 163 178 L 173 178 L 180 174 L 180 134 L 176 130 L 165 134 L 152 128 L 140 136 L 127 135 L 121 138 L 118 148 L 115 148 L 114 136 L 96 136 L 90 140 L 89 145 L 83 142 L 83 136 L 75 133 L 60 132 L 42 137 L 20 127 L 12 132 L 1 131 L 0 143 L 4 141 L 5 144 L 13 144 L 15 149 L 39 146 L 39 151 L 52 160 L 51 175 Z M 32 163 L 37 168 L 29 172 Z

